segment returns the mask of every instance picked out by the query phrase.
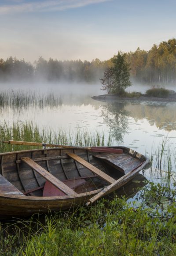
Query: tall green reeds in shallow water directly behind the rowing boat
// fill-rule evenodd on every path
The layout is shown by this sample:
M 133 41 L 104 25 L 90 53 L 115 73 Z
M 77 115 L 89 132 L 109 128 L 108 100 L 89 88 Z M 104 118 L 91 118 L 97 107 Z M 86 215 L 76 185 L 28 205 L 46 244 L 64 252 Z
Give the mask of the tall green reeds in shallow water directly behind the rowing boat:
M 104 132 L 98 130 L 90 132 L 87 128 L 65 131 L 59 129 L 57 132 L 52 130 L 39 130 L 37 125 L 32 122 L 25 122 L 20 124 L 13 124 L 12 126 L 7 123 L 0 124 L 0 141 L 3 140 L 19 140 L 40 143 L 54 143 L 59 145 L 70 146 L 111 146 L 112 138 L 109 136 L 105 139 Z M 18 151 L 25 149 L 32 149 L 37 147 L 31 146 L 18 146 L 0 143 L 0 152 Z

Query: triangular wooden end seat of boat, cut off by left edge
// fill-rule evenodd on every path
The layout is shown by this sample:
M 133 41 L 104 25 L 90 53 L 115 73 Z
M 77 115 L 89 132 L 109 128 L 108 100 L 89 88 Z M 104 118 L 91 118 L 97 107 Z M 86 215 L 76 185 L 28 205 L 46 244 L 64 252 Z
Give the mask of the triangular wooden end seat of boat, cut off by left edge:
M 18 188 L 15 188 L 10 181 L 0 174 L 0 194 L 25 196 Z

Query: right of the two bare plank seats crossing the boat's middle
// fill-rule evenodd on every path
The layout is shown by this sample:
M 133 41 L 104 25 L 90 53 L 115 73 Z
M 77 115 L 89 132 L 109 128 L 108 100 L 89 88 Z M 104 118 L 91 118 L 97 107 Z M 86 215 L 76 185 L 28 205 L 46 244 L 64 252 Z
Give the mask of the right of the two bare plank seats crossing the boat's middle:
M 90 164 L 87 161 L 85 161 L 83 158 L 79 157 L 77 154 L 68 153 L 67 155 L 70 156 L 70 158 L 73 158 L 75 161 L 79 162 L 82 166 L 88 168 L 93 173 L 97 174 L 103 180 L 108 181 L 111 184 L 116 181 L 112 177 L 107 175 L 106 173 L 103 173 L 101 170 L 99 170 L 98 168 L 96 168 L 92 164 Z

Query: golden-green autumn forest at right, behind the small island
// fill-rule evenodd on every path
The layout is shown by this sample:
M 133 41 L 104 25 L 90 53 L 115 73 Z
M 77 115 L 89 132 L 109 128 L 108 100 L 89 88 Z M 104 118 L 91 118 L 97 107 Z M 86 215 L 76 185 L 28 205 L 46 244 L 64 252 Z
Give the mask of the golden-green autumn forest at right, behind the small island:
M 131 76 L 140 83 L 176 84 L 176 38 L 127 54 Z

